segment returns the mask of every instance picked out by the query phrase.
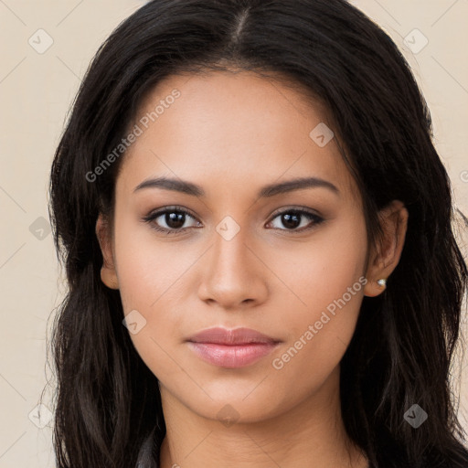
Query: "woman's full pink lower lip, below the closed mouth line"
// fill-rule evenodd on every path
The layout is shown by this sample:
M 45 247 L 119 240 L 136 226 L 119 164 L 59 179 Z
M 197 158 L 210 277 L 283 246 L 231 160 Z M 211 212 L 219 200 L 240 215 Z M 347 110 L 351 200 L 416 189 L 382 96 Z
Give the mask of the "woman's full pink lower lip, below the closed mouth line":
M 218 367 L 245 367 L 267 356 L 278 343 L 251 343 L 249 345 L 218 345 L 188 342 L 192 351 Z

